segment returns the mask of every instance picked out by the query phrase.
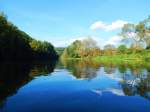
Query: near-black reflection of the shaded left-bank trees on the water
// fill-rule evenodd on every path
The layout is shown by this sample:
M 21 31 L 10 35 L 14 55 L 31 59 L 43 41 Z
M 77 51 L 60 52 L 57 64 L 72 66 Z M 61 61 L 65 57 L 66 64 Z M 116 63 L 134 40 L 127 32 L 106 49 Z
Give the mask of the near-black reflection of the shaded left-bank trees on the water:
M 16 94 L 18 89 L 35 76 L 53 72 L 56 62 L 3 62 L 0 64 L 0 106 L 8 96 Z

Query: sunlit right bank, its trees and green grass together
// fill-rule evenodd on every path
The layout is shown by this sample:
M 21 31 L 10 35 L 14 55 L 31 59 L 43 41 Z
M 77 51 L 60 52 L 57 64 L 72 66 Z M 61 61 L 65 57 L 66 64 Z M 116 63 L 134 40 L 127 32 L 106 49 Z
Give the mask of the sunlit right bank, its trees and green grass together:
M 150 62 L 150 17 L 138 24 L 127 23 L 118 34 L 118 46 L 107 44 L 102 49 L 91 37 L 76 40 L 64 49 L 61 59 L 95 62 Z

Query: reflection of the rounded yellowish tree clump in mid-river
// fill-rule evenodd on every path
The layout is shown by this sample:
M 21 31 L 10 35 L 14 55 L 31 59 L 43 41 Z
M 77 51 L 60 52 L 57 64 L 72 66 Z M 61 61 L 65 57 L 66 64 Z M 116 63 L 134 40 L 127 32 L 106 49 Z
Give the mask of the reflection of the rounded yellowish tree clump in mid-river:
M 77 79 L 95 78 L 100 67 L 100 63 L 91 60 L 61 60 L 61 62 Z

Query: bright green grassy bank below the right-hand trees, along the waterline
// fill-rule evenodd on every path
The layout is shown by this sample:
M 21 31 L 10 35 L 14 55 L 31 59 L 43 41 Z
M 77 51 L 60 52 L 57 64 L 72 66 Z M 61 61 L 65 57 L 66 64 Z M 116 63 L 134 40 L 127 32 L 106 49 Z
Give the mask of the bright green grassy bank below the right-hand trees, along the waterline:
M 97 56 L 85 58 L 67 58 L 67 60 L 93 60 L 95 62 L 150 62 L 150 51 L 132 54 L 116 54 L 111 56 Z

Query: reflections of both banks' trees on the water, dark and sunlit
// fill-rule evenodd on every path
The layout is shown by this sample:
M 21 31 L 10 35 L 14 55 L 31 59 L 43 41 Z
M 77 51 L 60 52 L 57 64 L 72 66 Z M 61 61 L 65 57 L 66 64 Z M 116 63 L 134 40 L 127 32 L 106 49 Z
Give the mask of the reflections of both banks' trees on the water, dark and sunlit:
M 7 97 L 16 94 L 19 88 L 38 75 L 49 75 L 56 62 L 1 63 L 0 64 L 0 105 Z M 150 64 L 140 63 L 98 63 L 92 60 L 61 60 L 56 69 L 66 69 L 77 79 L 93 80 L 105 74 L 119 77 L 119 84 L 125 95 L 140 95 L 150 99 Z M 100 76 L 101 77 L 101 76 Z

